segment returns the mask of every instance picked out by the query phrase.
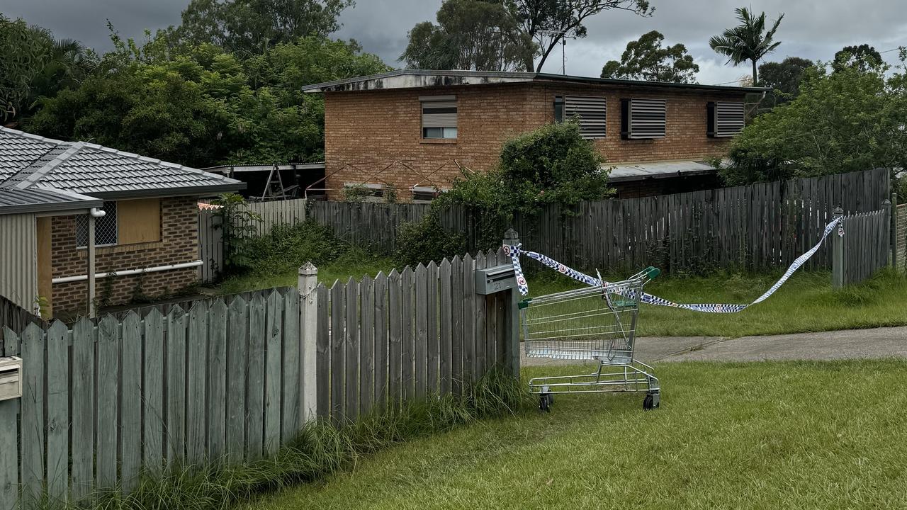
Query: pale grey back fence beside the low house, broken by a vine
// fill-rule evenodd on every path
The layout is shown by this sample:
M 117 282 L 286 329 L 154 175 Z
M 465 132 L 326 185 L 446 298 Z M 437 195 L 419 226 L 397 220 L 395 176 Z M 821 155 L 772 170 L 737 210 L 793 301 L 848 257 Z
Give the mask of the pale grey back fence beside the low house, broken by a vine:
M 306 221 L 306 200 L 258 201 L 249 202 L 240 208 L 254 212 L 259 220 L 243 220 L 236 231 L 243 236 L 258 237 L 268 235 L 278 225 L 293 226 Z M 214 206 L 203 207 L 199 211 L 199 256 L 204 263 L 199 268 L 199 279 L 203 282 L 215 281 L 223 270 L 223 229 Z

